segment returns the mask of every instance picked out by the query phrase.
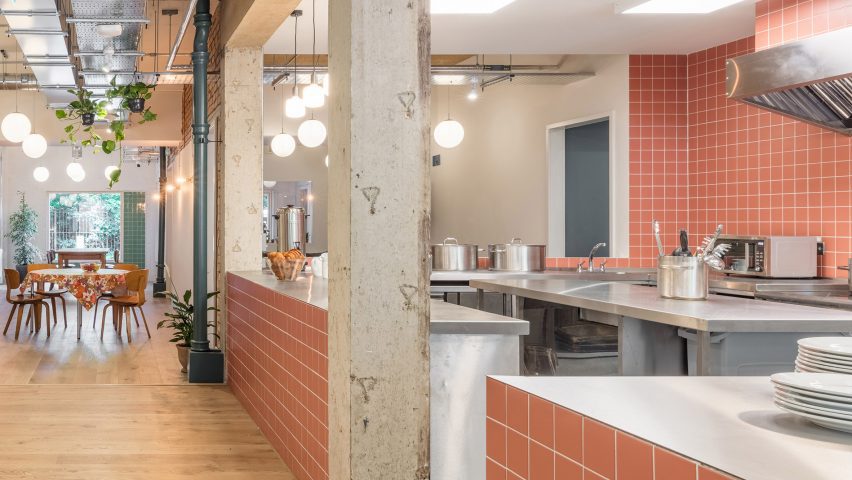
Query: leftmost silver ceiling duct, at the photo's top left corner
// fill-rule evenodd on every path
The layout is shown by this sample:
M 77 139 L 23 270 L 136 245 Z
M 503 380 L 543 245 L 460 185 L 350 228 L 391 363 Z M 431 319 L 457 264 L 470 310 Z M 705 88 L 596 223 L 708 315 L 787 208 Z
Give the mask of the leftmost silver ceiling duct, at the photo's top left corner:
M 71 101 L 66 90 L 76 85 L 60 13 L 55 0 L 0 0 L 9 33 L 50 104 Z

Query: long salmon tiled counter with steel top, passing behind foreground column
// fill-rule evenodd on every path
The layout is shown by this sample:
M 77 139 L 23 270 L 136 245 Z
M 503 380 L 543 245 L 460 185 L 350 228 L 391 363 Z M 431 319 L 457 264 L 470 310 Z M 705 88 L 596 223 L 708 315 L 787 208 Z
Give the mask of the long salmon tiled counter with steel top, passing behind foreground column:
M 328 281 L 228 274 L 228 382 L 299 480 L 328 479 Z M 517 375 L 524 320 L 432 300 L 434 479 L 485 477 L 485 377 Z

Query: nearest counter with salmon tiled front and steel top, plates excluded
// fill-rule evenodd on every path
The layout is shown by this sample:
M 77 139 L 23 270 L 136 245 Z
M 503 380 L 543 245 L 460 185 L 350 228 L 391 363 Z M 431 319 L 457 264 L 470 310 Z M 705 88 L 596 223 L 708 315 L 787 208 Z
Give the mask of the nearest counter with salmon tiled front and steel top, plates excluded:
M 852 435 L 766 377 L 490 377 L 487 480 L 842 480 Z

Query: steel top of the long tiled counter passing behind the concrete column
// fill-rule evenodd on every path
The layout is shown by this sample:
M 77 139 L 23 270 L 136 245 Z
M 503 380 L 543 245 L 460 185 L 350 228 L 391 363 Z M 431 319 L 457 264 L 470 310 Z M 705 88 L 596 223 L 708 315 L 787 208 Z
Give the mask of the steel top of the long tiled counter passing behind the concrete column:
M 317 308 L 328 310 L 328 279 L 302 275 L 296 281 L 280 281 L 266 271 L 229 272 L 272 291 L 295 298 Z M 527 335 L 526 320 L 505 317 L 432 300 L 429 332 L 452 335 Z

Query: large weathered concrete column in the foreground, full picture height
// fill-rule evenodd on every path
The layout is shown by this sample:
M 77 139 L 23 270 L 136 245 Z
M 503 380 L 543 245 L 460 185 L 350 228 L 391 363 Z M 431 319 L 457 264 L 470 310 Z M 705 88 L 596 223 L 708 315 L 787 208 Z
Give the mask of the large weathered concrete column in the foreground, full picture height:
M 329 476 L 429 478 L 428 0 L 331 0 Z

